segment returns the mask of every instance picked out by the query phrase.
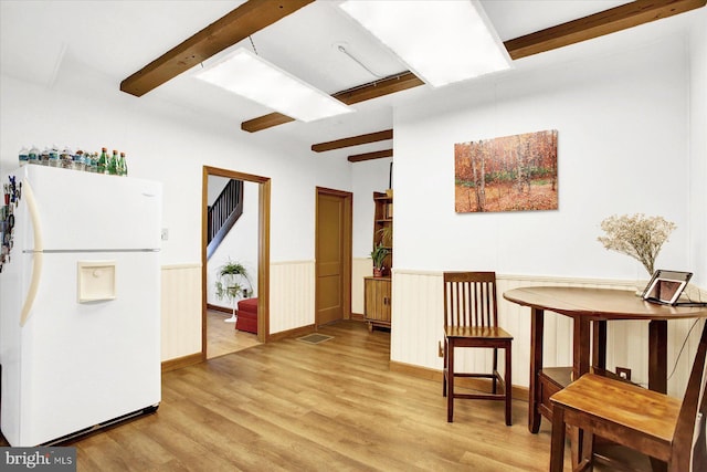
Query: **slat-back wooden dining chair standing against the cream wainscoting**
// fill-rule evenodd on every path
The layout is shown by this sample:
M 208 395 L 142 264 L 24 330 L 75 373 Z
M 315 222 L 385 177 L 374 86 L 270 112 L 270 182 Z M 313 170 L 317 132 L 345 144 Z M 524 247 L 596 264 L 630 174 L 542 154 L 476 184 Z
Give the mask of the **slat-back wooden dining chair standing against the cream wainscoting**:
M 504 400 L 506 424 L 510 426 L 510 346 L 513 336 L 498 326 L 495 272 L 444 273 L 444 376 L 442 392 L 446 400 L 446 420 L 454 417 L 454 399 Z M 485 347 L 493 349 L 490 373 L 456 371 L 456 347 Z M 498 373 L 498 349 L 505 354 L 505 376 Z M 492 392 L 461 394 L 454 391 L 458 377 L 487 378 Z

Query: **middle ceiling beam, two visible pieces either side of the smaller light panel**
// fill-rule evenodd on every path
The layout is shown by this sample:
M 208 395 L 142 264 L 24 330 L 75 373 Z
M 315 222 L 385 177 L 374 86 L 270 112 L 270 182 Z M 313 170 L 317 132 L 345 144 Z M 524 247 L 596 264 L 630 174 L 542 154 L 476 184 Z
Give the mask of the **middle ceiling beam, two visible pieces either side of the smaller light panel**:
M 419 85 L 424 85 L 424 82 L 422 82 L 420 77 L 412 72 L 405 71 L 379 81 L 369 82 L 363 85 L 337 92 L 331 96 L 347 105 L 352 105 L 355 103 L 366 102 L 367 99 L 401 92 L 407 88 L 413 88 Z M 294 120 L 294 118 L 286 115 L 271 113 L 270 115 L 258 116 L 257 118 L 241 123 L 241 129 L 249 133 L 255 133 L 292 120 Z

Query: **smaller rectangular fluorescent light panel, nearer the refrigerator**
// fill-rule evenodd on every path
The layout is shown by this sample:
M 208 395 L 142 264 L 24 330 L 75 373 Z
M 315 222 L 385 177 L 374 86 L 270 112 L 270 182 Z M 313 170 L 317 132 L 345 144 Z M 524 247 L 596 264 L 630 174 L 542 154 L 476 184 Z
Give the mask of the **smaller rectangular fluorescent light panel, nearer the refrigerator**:
M 352 112 L 338 99 L 243 48 L 196 76 L 302 122 Z

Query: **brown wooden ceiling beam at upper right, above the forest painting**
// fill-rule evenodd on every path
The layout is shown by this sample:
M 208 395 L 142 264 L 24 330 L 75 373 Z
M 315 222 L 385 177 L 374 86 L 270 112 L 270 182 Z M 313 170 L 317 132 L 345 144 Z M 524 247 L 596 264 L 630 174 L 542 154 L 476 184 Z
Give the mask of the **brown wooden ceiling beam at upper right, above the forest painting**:
M 504 42 L 511 59 L 599 38 L 704 7 L 707 0 L 636 0 Z

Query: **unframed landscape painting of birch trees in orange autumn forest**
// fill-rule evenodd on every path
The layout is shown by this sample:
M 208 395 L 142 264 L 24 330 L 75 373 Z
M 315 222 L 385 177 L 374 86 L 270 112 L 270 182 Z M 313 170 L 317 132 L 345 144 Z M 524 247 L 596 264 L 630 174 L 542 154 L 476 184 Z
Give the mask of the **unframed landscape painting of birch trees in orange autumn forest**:
M 454 145 L 457 213 L 557 210 L 557 129 Z

